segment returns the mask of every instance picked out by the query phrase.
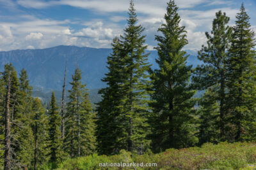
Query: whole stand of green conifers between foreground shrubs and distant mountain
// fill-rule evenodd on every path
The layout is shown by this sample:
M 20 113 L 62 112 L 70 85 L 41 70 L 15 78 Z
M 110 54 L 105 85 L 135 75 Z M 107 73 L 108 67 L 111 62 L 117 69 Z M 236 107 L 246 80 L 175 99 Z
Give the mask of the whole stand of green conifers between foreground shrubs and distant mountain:
M 18 75 L 6 64 L 0 75 L 0 169 L 43 169 L 45 164 L 54 169 L 68 158 L 95 153 L 143 155 L 255 141 L 255 33 L 243 4 L 232 26 L 225 12 L 216 13 L 212 31 L 205 32 L 207 43 L 198 51 L 204 64 L 196 68 L 186 64 L 186 27 L 173 0 L 164 20 L 156 35 L 159 57 L 153 70 L 131 1 L 124 34 L 113 39 L 102 79 L 107 86 L 99 90 L 102 100 L 95 110 L 81 81 L 83 66 L 67 82 L 70 89 L 63 66 L 61 103 L 52 91 L 43 106 L 31 96 L 26 70 Z

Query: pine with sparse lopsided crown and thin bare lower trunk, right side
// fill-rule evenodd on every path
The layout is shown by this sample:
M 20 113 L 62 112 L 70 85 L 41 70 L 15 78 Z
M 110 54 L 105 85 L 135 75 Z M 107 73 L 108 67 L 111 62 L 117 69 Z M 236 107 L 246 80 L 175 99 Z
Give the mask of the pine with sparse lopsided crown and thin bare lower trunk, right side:
M 204 62 L 204 65 L 198 66 L 194 82 L 198 83 L 199 90 L 209 89 L 210 87 L 216 93 L 216 101 L 219 106 L 219 122 L 220 138 L 225 140 L 225 127 L 227 117 L 227 51 L 230 47 L 230 37 L 232 28 L 227 26 L 229 17 L 226 13 L 219 11 L 216 18 L 212 22 L 212 31 L 205 32 L 207 46 L 202 46 L 202 50 L 198 52 L 198 59 Z M 215 96 L 215 95 L 214 95 Z

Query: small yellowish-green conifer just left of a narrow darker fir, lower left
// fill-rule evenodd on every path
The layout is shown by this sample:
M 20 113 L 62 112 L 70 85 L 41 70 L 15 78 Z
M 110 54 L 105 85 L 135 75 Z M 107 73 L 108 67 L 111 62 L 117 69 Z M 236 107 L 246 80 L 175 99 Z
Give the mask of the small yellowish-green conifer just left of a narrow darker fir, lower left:
M 42 107 L 40 99 L 36 98 L 33 100 L 32 104 L 32 120 L 31 127 L 33 129 L 33 167 L 38 169 L 38 166 L 47 162 L 49 157 L 47 154 L 49 149 L 47 149 L 47 138 L 48 136 L 48 120 L 45 114 L 45 109 Z M 27 148 L 27 149 L 28 149 Z

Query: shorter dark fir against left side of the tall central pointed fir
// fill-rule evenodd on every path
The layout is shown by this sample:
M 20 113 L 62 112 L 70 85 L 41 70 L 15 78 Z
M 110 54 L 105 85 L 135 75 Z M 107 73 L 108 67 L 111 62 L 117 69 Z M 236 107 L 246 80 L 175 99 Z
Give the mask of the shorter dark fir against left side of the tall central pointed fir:
M 113 39 L 112 53 L 108 57 L 108 70 L 102 81 L 107 87 L 99 90 L 102 100 L 97 104 L 97 143 L 100 154 L 115 154 L 124 148 L 120 139 L 124 131 L 120 128 L 120 107 L 122 106 L 122 46 L 120 39 Z

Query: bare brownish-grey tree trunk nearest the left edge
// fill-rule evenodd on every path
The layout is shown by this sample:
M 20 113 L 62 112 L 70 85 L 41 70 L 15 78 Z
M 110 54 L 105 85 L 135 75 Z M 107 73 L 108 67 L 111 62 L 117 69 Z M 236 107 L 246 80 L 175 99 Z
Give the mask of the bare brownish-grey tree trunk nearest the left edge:
M 10 74 L 8 75 L 6 92 L 6 105 L 5 105 L 5 132 L 4 132 L 4 170 L 11 169 L 11 127 L 10 127 L 10 90 L 11 80 Z

